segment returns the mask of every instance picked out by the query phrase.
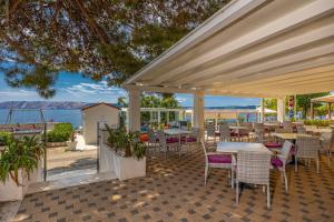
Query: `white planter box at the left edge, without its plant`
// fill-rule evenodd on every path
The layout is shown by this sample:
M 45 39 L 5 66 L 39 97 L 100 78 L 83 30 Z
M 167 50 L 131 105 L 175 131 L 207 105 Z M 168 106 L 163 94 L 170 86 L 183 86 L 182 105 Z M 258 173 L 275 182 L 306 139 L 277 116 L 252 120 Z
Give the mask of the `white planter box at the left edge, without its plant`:
M 30 173 L 30 180 L 24 171 L 19 170 L 18 179 L 21 185 L 17 185 L 17 183 L 8 176 L 4 184 L 0 182 L 0 202 L 22 200 L 28 191 L 29 184 L 42 181 L 42 161 L 40 161 L 38 168 Z

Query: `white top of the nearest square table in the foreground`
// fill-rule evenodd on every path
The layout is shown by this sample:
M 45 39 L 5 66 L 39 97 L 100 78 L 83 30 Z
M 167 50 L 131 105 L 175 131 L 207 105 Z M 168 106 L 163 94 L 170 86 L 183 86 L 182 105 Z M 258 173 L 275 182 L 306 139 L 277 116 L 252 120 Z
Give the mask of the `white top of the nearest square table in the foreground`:
M 272 152 L 262 143 L 252 143 L 252 142 L 218 142 L 217 143 L 217 152 L 237 153 L 239 150 L 265 152 L 272 154 Z

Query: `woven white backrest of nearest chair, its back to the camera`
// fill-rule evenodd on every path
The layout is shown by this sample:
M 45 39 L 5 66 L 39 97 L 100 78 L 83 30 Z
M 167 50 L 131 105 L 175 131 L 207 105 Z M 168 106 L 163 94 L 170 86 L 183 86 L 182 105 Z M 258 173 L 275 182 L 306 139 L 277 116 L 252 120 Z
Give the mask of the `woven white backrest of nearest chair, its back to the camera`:
M 268 184 L 271 153 L 238 151 L 236 179 L 239 182 Z

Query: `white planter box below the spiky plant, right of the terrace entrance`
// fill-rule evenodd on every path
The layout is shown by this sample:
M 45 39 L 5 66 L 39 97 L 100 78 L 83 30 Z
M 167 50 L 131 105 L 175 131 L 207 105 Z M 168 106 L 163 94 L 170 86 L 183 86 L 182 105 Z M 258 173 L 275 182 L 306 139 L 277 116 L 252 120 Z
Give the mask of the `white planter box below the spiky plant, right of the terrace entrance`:
M 146 175 L 146 158 L 122 158 L 105 143 L 100 147 L 100 172 L 114 172 L 119 180 Z

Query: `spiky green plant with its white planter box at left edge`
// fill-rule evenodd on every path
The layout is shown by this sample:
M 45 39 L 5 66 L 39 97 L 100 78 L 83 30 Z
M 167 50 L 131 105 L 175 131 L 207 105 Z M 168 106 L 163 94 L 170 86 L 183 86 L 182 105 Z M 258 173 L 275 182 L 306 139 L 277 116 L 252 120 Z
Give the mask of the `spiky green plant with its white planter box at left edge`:
M 43 145 L 36 137 L 10 137 L 0 153 L 0 201 L 20 200 L 29 183 L 41 181 Z

